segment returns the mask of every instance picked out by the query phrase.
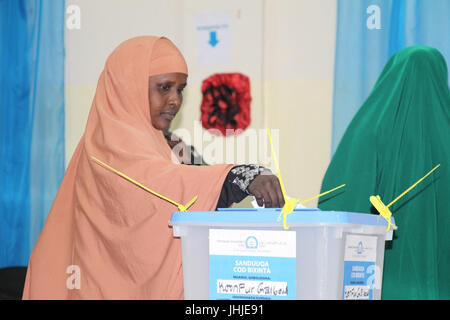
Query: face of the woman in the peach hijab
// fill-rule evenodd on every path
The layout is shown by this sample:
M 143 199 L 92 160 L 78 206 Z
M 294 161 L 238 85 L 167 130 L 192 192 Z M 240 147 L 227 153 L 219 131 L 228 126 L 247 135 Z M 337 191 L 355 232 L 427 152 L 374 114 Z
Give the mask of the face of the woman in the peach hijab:
M 186 80 L 187 75 L 184 73 L 165 73 L 150 77 L 148 96 L 155 129 L 169 128 L 183 102 Z

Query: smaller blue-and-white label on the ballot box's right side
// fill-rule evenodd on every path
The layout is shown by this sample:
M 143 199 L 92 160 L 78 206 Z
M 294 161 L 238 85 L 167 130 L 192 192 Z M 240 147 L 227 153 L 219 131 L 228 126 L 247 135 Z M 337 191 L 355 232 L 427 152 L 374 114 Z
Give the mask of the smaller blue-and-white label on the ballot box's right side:
M 344 254 L 344 300 L 372 300 L 377 237 L 348 234 Z

